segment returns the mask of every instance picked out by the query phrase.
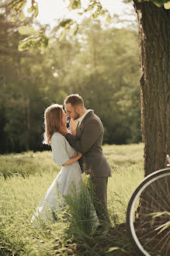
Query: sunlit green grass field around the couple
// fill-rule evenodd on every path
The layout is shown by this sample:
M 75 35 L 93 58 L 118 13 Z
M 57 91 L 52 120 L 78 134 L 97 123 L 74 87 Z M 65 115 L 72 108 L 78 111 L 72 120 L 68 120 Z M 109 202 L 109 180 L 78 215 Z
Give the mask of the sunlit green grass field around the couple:
M 30 219 L 61 167 L 51 151 L 0 155 L 0 255 L 137 256 L 123 223 L 130 195 L 144 178 L 143 144 L 105 145 L 103 151 L 112 167 L 108 208 L 113 226 L 107 234 L 73 229 L 62 213 L 57 222 L 35 228 Z

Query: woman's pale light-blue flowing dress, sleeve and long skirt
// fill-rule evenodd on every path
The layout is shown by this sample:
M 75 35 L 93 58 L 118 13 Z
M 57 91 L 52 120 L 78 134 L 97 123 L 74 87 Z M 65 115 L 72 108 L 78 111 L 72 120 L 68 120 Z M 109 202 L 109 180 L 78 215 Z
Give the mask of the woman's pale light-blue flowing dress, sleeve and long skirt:
M 53 160 L 57 165 L 63 165 L 68 162 L 69 158 L 77 155 L 77 151 L 68 144 L 68 140 L 61 133 L 53 134 L 51 148 Z M 59 208 L 59 204 L 64 206 L 62 195 L 74 194 L 75 188 L 78 190 L 81 175 L 78 161 L 62 167 L 44 198 L 40 201 L 31 222 L 36 225 L 36 220 L 54 219 L 54 212 Z

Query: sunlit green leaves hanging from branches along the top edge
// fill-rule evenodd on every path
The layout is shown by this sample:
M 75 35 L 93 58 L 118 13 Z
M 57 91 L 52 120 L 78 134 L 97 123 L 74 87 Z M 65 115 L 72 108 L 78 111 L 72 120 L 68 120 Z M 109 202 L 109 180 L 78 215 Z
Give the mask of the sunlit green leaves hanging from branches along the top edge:
M 149 0 L 139 0 L 139 2 L 149 2 Z M 170 9 L 170 2 L 168 0 L 150 0 L 151 2 L 154 3 L 154 5 L 157 5 L 158 7 L 161 7 L 162 5 L 164 5 L 165 9 Z M 19 20 L 25 20 L 25 16 L 23 13 L 23 8 L 26 5 L 26 0 L 24 1 L 19 1 L 19 0 L 12 0 L 12 2 L 9 3 L 8 9 L 11 12 L 11 20 L 12 22 L 16 21 L 16 18 L 18 16 Z M 130 2 L 129 0 L 124 0 L 124 2 Z M 68 5 L 68 9 L 82 9 L 82 5 L 81 5 L 81 1 L 80 0 L 70 0 L 70 4 Z M 32 0 L 31 2 L 31 7 L 27 10 L 30 13 L 33 13 L 33 16 L 36 17 L 38 15 L 38 5 L 36 3 L 36 1 Z M 108 22 L 110 22 L 110 15 L 108 10 L 104 9 L 102 7 L 102 4 L 98 1 L 98 0 L 91 0 L 88 3 L 88 7 L 86 9 L 84 9 L 81 12 L 78 12 L 80 15 L 82 15 L 85 12 L 90 12 L 93 18 L 97 18 L 98 16 L 101 15 L 107 15 L 106 20 Z M 65 30 L 70 30 L 71 29 L 71 25 L 75 23 L 75 21 L 71 20 L 71 19 L 66 19 L 66 20 L 62 20 L 61 21 L 61 25 L 58 27 L 60 29 L 60 27 L 64 28 L 64 31 L 62 31 L 61 33 L 61 40 L 66 36 L 66 31 Z M 76 34 L 78 31 L 78 24 L 76 24 L 76 26 L 73 28 L 73 33 L 72 34 Z M 26 38 L 26 43 L 24 43 L 24 41 L 22 41 L 19 47 L 19 51 L 23 51 L 23 49 L 27 50 L 29 48 L 32 47 L 38 47 L 41 49 L 41 52 L 43 53 L 44 49 L 47 48 L 48 45 L 48 40 L 49 38 L 45 38 L 45 35 L 41 35 L 39 37 L 29 37 Z

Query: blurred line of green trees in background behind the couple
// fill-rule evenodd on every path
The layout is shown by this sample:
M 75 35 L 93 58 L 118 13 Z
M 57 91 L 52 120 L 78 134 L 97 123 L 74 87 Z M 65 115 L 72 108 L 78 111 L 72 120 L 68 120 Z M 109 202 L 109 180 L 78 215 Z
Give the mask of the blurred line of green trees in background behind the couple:
M 21 20 L 12 23 L 4 9 L 0 23 L 1 154 L 47 149 L 42 145 L 44 109 L 50 102 L 63 104 L 72 93 L 81 94 L 85 107 L 102 119 L 104 143 L 141 141 L 136 27 L 118 29 L 85 19 L 76 36 L 59 41 L 57 28 L 36 24 L 53 39 L 41 54 L 33 48 L 18 51 Z

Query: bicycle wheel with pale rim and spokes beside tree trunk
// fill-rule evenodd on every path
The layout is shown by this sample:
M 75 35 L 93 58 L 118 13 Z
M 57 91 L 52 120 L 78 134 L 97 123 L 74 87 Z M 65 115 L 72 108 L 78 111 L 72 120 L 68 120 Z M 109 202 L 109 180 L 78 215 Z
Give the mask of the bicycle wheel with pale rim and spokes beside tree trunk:
M 134 191 L 127 233 L 139 254 L 170 255 L 170 169 L 152 172 Z

